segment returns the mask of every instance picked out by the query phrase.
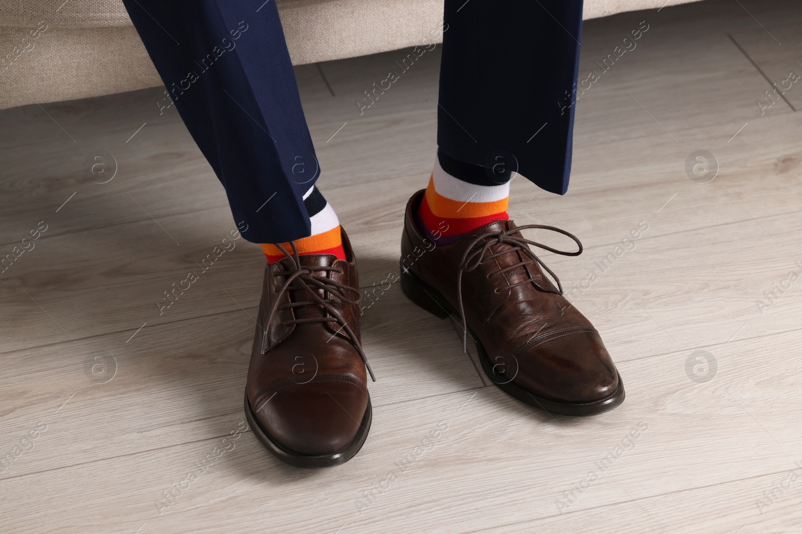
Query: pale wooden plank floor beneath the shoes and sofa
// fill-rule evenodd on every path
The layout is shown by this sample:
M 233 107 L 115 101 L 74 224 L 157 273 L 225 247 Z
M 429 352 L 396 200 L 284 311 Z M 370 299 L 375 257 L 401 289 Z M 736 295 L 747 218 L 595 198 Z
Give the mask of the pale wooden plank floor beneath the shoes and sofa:
M 770 107 L 765 94 L 802 73 L 802 7 L 589 21 L 581 79 L 642 21 L 577 100 L 569 193 L 517 178 L 509 210 L 585 244 L 544 259 L 602 332 L 626 402 L 534 411 L 394 284 L 365 312 L 371 434 L 318 471 L 241 432 L 257 246 L 237 241 L 160 314 L 235 227 L 162 90 L 0 112 L 0 255 L 38 235 L 0 273 L 0 531 L 802 532 L 802 81 Z M 354 105 L 401 57 L 297 70 L 366 292 L 396 272 L 403 206 L 434 158 L 439 47 Z M 113 160 L 92 178 L 98 151 Z M 717 164 L 691 180 L 696 151 Z

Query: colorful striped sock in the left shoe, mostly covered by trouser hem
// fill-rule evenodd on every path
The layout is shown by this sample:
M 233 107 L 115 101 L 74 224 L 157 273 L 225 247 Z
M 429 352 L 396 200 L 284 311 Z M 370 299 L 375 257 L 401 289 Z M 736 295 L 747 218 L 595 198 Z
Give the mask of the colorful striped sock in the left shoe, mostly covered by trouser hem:
M 340 221 L 334 209 L 318 191 L 318 187 L 313 186 L 306 191 L 303 195 L 303 205 L 312 223 L 312 235 L 293 242 L 298 254 L 333 254 L 337 259 L 346 259 L 346 253 L 342 248 Z M 292 254 L 290 243 L 281 244 Z M 261 251 L 267 256 L 267 263 L 274 263 L 286 257 L 274 244 L 262 243 L 260 246 Z

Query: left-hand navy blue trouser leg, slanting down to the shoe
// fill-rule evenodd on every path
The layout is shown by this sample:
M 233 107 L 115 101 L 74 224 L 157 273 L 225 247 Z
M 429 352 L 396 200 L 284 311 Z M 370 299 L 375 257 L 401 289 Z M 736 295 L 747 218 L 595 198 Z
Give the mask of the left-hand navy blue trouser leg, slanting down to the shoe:
M 258 13 L 242 1 L 124 4 L 234 220 L 247 225 L 243 237 L 309 235 L 302 196 L 319 169 L 275 4 Z

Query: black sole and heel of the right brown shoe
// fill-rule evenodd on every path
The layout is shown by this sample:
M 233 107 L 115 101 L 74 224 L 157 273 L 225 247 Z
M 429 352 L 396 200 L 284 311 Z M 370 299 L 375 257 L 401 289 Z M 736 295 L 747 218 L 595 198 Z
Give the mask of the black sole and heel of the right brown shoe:
M 403 259 L 400 261 L 400 266 L 401 291 L 403 291 L 404 295 L 407 295 L 407 299 L 410 299 L 412 303 L 415 303 L 418 307 L 422 307 L 439 319 L 447 319 L 450 315 L 459 316 L 456 310 L 439 291 L 423 282 L 415 273 L 404 266 Z M 470 332 L 474 343 L 476 343 L 476 351 L 479 352 L 479 361 L 482 364 L 482 371 L 484 371 L 488 379 L 496 384 L 501 391 L 512 395 L 530 406 L 540 408 L 544 412 L 560 414 L 562 416 L 595 416 L 603 412 L 609 412 L 624 402 L 626 392 L 624 391 L 624 383 L 622 382 L 620 374 L 618 374 L 618 388 L 616 391 L 606 399 L 593 401 L 591 403 L 565 403 L 542 397 L 512 382 L 500 383 L 498 380 L 505 379 L 506 377 L 496 374 L 496 372 L 493 371 L 494 365 L 488 358 L 488 353 L 484 350 L 484 345 L 470 327 L 468 327 L 468 332 Z

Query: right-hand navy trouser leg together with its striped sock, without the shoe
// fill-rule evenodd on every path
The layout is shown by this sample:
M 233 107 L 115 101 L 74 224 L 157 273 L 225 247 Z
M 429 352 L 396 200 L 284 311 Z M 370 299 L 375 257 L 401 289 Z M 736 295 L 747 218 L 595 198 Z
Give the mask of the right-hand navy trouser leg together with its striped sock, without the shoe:
M 445 242 L 508 219 L 512 172 L 568 187 L 582 2 L 445 2 L 438 155 L 418 208 Z M 570 97 L 566 99 L 566 97 Z

